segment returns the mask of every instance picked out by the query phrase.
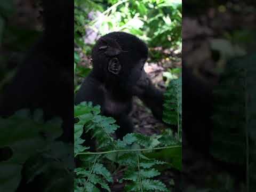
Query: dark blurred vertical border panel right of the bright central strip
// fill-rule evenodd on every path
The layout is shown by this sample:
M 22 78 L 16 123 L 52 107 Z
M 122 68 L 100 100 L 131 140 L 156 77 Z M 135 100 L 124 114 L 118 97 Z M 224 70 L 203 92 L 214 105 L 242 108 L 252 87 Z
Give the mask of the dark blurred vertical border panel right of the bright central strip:
M 183 191 L 255 191 L 255 1 L 182 1 Z

